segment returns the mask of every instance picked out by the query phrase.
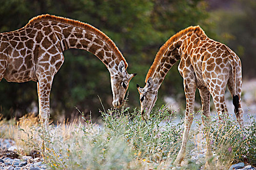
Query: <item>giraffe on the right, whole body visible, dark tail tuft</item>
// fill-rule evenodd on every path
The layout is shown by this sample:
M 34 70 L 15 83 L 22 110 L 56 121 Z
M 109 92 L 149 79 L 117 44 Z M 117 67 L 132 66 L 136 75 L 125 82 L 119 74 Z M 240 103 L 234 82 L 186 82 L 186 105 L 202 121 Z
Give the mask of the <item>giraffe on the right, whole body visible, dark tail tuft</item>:
M 193 121 L 196 88 L 199 89 L 202 102 L 202 121 L 209 126 L 210 95 L 222 119 L 228 114 L 224 94 L 228 85 L 235 113 L 240 128 L 243 127 L 243 111 L 241 108 L 241 62 L 238 56 L 227 46 L 206 36 L 199 27 L 188 27 L 172 36 L 158 51 L 153 65 L 146 76 L 146 85 L 140 88 L 141 114 L 143 119 L 149 119 L 149 114 L 157 101 L 158 89 L 169 69 L 180 59 L 178 70 L 184 79 L 186 96 L 185 127 L 182 145 L 175 165 L 180 165 L 185 157 L 186 143 Z M 212 151 L 207 147 L 206 157 L 210 158 Z

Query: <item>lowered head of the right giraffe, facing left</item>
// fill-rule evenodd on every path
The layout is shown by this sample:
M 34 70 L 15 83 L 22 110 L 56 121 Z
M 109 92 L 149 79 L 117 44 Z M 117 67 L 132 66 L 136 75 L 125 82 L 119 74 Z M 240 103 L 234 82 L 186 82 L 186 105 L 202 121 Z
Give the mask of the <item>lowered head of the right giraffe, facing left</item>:
M 148 120 L 149 114 L 158 99 L 157 85 L 152 81 L 152 77 L 149 77 L 144 88 L 139 87 L 138 84 L 137 88 L 142 119 Z

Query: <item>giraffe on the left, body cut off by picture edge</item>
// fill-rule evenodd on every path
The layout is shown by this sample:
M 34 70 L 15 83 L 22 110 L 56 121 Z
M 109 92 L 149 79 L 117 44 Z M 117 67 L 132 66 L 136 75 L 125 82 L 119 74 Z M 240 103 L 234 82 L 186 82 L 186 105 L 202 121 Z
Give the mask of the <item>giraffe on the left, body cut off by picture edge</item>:
M 114 42 L 83 22 L 46 14 L 32 18 L 17 31 L 0 33 L 0 80 L 37 82 L 39 118 L 45 130 L 53 78 L 64 62 L 62 52 L 68 49 L 89 51 L 105 64 L 115 107 L 121 106 L 129 82 L 136 75 L 128 74 L 128 64 Z

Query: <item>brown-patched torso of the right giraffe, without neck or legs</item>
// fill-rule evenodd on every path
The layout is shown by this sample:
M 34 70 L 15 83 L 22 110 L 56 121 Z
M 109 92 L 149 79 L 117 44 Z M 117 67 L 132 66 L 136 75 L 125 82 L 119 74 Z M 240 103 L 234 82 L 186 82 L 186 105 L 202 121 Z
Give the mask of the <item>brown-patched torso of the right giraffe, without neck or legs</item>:
M 188 38 L 179 48 L 181 60 L 178 67 L 183 78 L 190 75 L 186 72 L 190 72 L 196 75 L 197 87 L 205 87 L 209 83 L 206 83 L 207 79 L 211 80 L 209 85 L 212 88 L 220 88 L 230 77 L 241 74 L 240 59 L 226 45 L 207 37 L 203 31 L 184 36 Z M 233 66 L 236 66 L 236 72 L 233 72 Z

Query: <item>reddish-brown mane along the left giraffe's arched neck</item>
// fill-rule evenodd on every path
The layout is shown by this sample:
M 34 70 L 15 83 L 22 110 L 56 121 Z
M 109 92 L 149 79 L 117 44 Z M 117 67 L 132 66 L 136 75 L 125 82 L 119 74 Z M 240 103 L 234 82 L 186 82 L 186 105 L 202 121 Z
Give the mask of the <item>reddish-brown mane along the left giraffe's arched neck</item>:
M 27 25 L 33 24 L 38 21 L 43 21 L 43 20 L 50 20 L 50 21 L 60 22 L 63 24 L 68 24 L 68 25 L 71 25 L 74 27 L 79 27 L 79 28 L 85 29 L 93 34 L 96 34 L 100 39 L 102 39 L 113 50 L 114 54 L 118 57 L 119 61 L 122 60 L 124 62 L 125 68 L 128 67 L 128 63 L 125 61 L 125 58 L 123 57 L 122 53 L 118 50 L 118 47 L 116 46 L 116 44 L 106 34 L 101 32 L 94 26 L 84 23 L 84 22 L 81 22 L 81 21 L 78 21 L 78 20 L 69 19 L 69 18 L 65 18 L 65 17 L 57 17 L 57 16 L 49 15 L 49 14 L 33 17 L 32 19 L 30 19 L 30 21 L 27 23 Z

